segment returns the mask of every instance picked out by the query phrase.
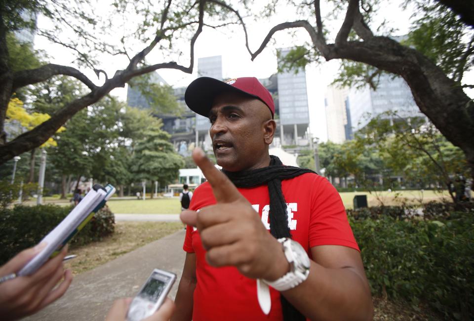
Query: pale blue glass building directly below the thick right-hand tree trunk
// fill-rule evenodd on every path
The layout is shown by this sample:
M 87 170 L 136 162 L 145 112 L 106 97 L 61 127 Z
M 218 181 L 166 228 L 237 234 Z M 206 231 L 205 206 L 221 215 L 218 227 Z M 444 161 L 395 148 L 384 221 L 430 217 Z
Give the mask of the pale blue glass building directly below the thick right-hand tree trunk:
M 371 118 L 393 111 L 401 118 L 425 117 L 418 109 L 405 80 L 393 75 L 380 77 L 377 90 L 365 86 L 349 90 L 349 109 L 354 131 L 363 128 Z

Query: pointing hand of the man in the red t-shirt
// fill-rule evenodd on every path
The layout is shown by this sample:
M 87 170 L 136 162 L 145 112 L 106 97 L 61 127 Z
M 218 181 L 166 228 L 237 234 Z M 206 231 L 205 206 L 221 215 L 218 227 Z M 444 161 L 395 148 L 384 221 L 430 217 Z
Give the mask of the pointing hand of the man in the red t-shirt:
M 281 244 L 268 233 L 251 204 L 200 148 L 193 151 L 193 159 L 210 183 L 217 204 L 199 212 L 184 210 L 180 217 L 197 227 L 209 265 L 235 266 L 248 278 L 269 281 L 288 272 Z

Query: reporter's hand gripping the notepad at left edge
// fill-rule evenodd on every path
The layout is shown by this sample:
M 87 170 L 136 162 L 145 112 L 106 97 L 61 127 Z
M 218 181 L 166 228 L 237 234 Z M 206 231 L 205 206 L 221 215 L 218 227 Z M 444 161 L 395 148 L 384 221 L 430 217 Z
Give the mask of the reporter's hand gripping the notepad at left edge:
M 18 273 L 46 244 L 18 253 L 0 267 L 0 277 Z M 40 311 L 60 298 L 68 289 L 73 276 L 70 270 L 64 271 L 63 258 L 67 246 L 54 258 L 49 259 L 34 274 L 4 281 L 0 284 L 0 315 L 2 320 L 16 320 Z M 56 284 L 64 280 L 56 287 Z

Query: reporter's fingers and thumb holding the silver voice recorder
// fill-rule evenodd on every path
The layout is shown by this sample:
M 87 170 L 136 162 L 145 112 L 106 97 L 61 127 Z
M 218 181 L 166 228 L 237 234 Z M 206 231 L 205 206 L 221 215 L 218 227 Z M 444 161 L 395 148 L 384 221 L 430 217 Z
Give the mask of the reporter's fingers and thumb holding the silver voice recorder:
M 128 307 L 132 302 L 132 298 L 119 299 L 114 302 L 110 308 L 105 321 L 125 321 L 127 317 Z M 143 321 L 168 321 L 174 312 L 174 302 L 168 298 L 163 302 L 161 307 L 150 317 Z

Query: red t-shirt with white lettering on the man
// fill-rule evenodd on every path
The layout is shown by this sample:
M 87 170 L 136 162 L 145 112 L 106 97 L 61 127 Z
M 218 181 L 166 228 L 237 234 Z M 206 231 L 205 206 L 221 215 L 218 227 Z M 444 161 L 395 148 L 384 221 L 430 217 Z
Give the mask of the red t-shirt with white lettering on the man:
M 281 182 L 287 202 L 288 225 L 292 239 L 308 252 L 317 245 L 343 245 L 359 250 L 342 200 L 324 177 L 306 173 Z M 239 188 L 270 230 L 270 197 L 267 185 Z M 201 184 L 191 200 L 190 209 L 198 210 L 215 204 L 208 182 Z M 242 276 L 235 267 L 214 268 L 205 260 L 199 233 L 187 227 L 183 249 L 196 253 L 197 284 L 194 291 L 194 321 L 278 320 L 283 319 L 280 294 L 271 288 L 272 309 L 266 316 L 257 300 L 256 280 Z

